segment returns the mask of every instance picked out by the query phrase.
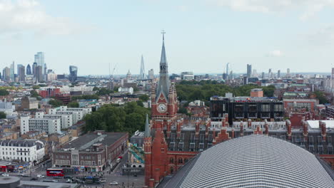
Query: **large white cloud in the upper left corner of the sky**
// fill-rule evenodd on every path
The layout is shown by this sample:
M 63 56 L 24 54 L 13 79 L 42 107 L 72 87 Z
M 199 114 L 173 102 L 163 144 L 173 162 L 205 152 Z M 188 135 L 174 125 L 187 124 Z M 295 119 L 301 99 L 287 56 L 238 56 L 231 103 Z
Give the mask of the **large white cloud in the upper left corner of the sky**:
M 0 0 L 0 33 L 8 36 L 67 35 L 85 30 L 69 18 L 50 16 L 36 0 Z

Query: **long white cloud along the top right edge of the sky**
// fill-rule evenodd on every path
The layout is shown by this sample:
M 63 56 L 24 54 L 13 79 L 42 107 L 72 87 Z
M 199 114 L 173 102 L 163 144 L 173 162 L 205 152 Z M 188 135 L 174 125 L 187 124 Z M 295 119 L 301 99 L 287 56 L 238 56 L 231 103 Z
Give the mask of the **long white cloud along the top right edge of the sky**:
M 217 6 L 227 6 L 235 11 L 263 13 L 284 13 L 301 11 L 300 19 L 305 21 L 315 16 L 325 6 L 334 6 L 334 0 L 206 0 Z

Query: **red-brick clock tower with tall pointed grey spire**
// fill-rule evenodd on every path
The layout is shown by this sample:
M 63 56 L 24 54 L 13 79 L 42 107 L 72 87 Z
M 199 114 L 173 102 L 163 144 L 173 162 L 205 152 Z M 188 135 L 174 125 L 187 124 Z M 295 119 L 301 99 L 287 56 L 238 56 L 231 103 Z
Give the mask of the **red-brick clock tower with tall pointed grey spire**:
M 160 76 L 157 85 L 151 91 L 151 126 L 146 121 L 144 152 L 145 152 L 145 187 L 156 187 L 168 174 L 166 159 L 168 144 L 166 136 L 171 135 L 171 127 L 175 125 L 178 111 L 176 88 L 168 77 L 168 63 L 165 51 L 165 32 L 160 59 Z M 163 130 L 166 130 L 164 134 Z

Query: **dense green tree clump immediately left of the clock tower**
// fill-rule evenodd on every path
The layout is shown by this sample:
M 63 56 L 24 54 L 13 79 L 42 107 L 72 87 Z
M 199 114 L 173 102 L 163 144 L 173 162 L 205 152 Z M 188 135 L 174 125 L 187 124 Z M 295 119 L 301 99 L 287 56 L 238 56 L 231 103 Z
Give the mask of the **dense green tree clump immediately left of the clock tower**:
M 145 129 L 146 114 L 150 110 L 136 102 L 124 106 L 103 105 L 95 112 L 84 117 L 86 131 L 106 130 L 108 132 L 129 132 Z

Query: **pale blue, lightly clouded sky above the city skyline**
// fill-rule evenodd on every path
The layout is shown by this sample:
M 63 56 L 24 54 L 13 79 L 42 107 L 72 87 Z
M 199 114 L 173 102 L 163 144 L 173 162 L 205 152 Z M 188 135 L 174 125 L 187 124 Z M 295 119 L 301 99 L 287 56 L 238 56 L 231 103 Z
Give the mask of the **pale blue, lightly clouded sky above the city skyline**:
M 164 30 L 169 73 L 330 72 L 333 18 L 334 0 L 0 0 L 0 68 L 43 51 L 59 74 L 138 74 L 141 55 L 158 73 Z

